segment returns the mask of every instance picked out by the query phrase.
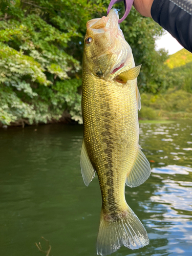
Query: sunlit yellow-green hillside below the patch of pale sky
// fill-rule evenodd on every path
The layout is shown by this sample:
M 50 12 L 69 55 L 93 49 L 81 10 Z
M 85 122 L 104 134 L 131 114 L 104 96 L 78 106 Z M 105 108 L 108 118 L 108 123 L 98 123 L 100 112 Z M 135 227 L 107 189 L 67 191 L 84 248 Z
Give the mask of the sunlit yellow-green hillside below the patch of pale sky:
M 182 49 L 172 55 L 165 61 L 170 69 L 181 67 L 192 61 L 192 53 Z

